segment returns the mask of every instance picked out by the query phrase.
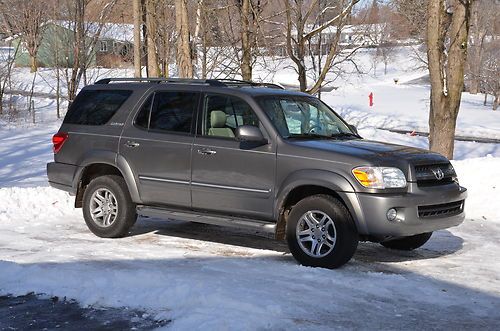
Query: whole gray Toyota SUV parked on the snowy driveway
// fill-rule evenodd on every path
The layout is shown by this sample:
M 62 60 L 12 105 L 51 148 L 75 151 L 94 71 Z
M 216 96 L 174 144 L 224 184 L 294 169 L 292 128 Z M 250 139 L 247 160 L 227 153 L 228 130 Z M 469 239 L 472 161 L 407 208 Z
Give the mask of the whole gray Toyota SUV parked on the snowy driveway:
M 310 95 L 235 80 L 104 79 L 53 137 L 49 183 L 90 231 L 137 215 L 255 230 L 303 265 L 336 268 L 358 241 L 422 246 L 464 220 L 466 189 L 440 154 L 361 138 Z

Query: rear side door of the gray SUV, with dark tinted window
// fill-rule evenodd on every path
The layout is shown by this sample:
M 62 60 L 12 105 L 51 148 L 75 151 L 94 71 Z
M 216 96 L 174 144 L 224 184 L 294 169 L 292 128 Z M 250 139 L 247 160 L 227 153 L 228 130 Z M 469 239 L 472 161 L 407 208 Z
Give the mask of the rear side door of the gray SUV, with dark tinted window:
M 139 183 L 143 203 L 191 207 L 191 148 L 200 93 L 158 87 L 131 116 L 120 154 Z

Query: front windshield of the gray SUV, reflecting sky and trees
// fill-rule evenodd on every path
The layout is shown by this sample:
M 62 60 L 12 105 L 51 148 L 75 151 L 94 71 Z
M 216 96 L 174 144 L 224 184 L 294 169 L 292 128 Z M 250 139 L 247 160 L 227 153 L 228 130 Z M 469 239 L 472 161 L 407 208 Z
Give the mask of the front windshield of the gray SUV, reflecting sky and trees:
M 257 100 L 283 138 L 357 137 L 319 99 L 307 96 L 265 96 Z

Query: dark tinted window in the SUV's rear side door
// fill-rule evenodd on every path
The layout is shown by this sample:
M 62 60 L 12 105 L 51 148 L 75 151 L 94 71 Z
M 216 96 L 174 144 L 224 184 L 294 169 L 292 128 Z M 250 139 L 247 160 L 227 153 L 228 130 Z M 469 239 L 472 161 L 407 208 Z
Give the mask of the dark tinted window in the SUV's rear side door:
M 149 128 L 162 131 L 191 132 L 193 113 L 197 103 L 197 93 L 155 93 Z

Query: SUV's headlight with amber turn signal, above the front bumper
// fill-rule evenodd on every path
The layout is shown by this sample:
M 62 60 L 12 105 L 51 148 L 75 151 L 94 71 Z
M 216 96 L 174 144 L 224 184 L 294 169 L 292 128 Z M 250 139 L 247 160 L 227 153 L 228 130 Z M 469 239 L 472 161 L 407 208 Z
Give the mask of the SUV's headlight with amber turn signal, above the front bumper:
M 385 189 L 406 187 L 406 177 L 401 169 L 391 167 L 357 167 L 352 174 L 364 187 Z

